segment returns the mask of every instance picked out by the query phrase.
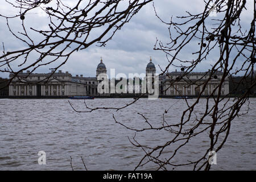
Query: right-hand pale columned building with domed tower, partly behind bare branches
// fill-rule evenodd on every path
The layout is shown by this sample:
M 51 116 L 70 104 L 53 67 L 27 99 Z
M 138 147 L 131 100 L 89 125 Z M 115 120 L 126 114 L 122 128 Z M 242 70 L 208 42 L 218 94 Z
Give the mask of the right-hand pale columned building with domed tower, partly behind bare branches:
M 150 63 L 146 67 L 146 75 L 155 74 L 155 65 Z M 220 85 L 223 73 L 216 71 L 211 75 L 211 72 L 168 72 L 159 76 L 159 94 L 160 96 L 209 96 L 213 93 L 216 96 L 218 86 Z M 205 84 L 207 83 L 207 84 Z M 205 88 L 204 88 L 205 87 Z M 204 91 L 202 92 L 204 88 Z M 144 88 L 146 89 L 146 88 Z M 221 96 L 229 93 L 229 80 L 225 78 L 221 84 Z

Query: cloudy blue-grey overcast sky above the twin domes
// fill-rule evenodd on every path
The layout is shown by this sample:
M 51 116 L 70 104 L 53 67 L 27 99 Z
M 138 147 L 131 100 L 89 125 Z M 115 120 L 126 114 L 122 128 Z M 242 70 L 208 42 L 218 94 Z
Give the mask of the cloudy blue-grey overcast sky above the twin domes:
M 66 2 L 72 3 L 72 1 Z M 161 0 L 154 1 L 154 5 L 159 16 L 166 22 L 170 20 L 171 16 L 184 15 L 185 11 L 200 13 L 204 9 L 203 0 Z M 253 0 L 248 1 L 246 8 L 247 11 L 243 11 L 242 18 L 244 25 L 249 26 Z M 3 3 L 0 6 L 0 14 L 18 14 L 18 10 L 11 9 L 10 5 Z M 27 15 L 24 21 L 27 26 L 36 26 L 37 24 L 47 26 L 48 24 L 47 16 L 41 11 Z M 0 18 L 0 23 L 1 44 L 2 42 L 5 43 L 6 51 L 22 48 L 22 44 L 19 44 L 7 30 L 5 18 Z M 12 27 L 19 30 L 19 28 L 22 28 L 20 24 L 21 22 L 17 18 L 12 22 Z M 97 47 L 94 44 L 88 49 L 75 52 L 68 60 L 68 63 L 61 67 L 61 70 L 68 71 L 73 76 L 95 77 L 96 67 L 100 63 L 100 57 L 102 56 L 108 73 L 110 68 L 115 68 L 115 73 L 125 73 L 128 76 L 128 73 L 145 73 L 146 65 L 151 56 L 153 63 L 156 65 L 156 72 L 160 73 L 158 65 L 165 67 L 168 62 L 163 52 L 153 50 L 156 38 L 165 43 L 170 41 L 167 26 L 156 18 L 152 3 L 149 3 L 129 23 L 125 24 L 122 30 L 118 31 L 105 47 Z M 184 52 L 183 56 L 181 59 L 190 59 L 189 54 L 186 52 Z M 213 61 L 214 59 L 205 61 L 195 71 L 207 71 Z M 16 64 L 18 65 L 18 63 Z M 53 67 L 54 64 L 39 68 L 36 73 L 48 73 L 50 72 L 49 68 Z M 170 71 L 175 69 L 171 68 Z M 8 76 L 6 73 L 0 73 L 0 77 Z

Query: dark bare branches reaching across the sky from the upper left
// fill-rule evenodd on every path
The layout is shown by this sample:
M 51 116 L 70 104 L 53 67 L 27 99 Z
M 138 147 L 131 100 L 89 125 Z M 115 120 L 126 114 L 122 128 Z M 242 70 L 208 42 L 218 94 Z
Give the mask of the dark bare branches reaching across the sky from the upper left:
M 73 2 L 72 7 L 61 0 L 6 1 L 13 9 L 19 10 L 19 14 L 12 16 L 1 14 L 0 16 L 6 18 L 7 27 L 16 41 L 23 43 L 23 48 L 11 51 L 5 51 L 5 44 L 2 44 L 0 72 L 13 75 L 6 86 L 15 77 L 20 80 L 19 73 L 26 69 L 32 69 L 31 74 L 39 67 L 52 65 L 57 60 L 63 59 L 57 67 L 51 68 L 55 72 L 61 65 L 67 63 L 73 52 L 86 49 L 94 43 L 97 43 L 97 46 L 105 46 L 123 24 L 129 22 L 144 5 L 151 1 L 77 0 Z M 42 9 L 47 14 L 46 30 L 26 26 L 26 15 L 34 9 Z M 20 19 L 21 30 L 11 28 L 10 20 L 17 18 Z M 35 35 L 32 36 L 30 33 Z M 23 63 L 19 64 L 19 60 Z M 13 68 L 14 64 L 19 64 L 18 70 Z

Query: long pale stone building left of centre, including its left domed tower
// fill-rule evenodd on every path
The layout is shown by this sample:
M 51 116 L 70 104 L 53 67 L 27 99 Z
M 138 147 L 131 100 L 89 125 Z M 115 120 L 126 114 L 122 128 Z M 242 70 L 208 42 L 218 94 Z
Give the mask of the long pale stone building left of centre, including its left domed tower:
M 96 75 L 106 73 L 98 64 Z M 10 77 L 13 75 L 10 74 Z M 9 85 L 9 96 L 93 96 L 97 94 L 97 77 L 72 76 L 68 72 L 19 73 Z

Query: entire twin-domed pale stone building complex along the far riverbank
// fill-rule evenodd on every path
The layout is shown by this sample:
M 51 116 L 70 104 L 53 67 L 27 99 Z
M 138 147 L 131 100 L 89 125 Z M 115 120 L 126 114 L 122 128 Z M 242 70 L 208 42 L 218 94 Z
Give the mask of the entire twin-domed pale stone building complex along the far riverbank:
M 19 73 L 18 77 L 14 78 L 9 85 L 9 96 L 96 96 L 102 95 L 98 93 L 97 86 L 102 80 L 97 80 L 97 76 L 104 73 L 106 74 L 106 65 L 102 59 L 96 68 L 96 77 L 83 77 L 82 75 L 72 76 L 68 72 L 58 71 L 53 73 Z M 155 75 L 155 64 L 150 62 L 146 66 L 146 76 L 148 74 Z M 222 72 L 214 73 L 205 87 L 203 96 L 208 96 L 213 92 L 214 88 L 220 83 Z M 210 72 L 191 72 L 184 76 L 184 72 L 170 72 L 165 75 L 159 76 L 159 95 L 160 96 L 197 96 L 203 89 L 203 83 L 208 80 Z M 10 74 L 10 78 L 13 77 Z M 142 80 L 141 80 L 142 79 Z M 145 87 L 142 87 L 142 81 L 139 80 L 139 85 L 128 84 L 125 85 L 126 93 L 145 93 Z M 109 79 L 109 90 L 117 84 L 111 85 Z M 154 80 L 153 80 L 154 82 Z M 153 84 L 154 85 L 154 84 Z M 154 87 L 154 86 L 153 86 Z M 112 88 L 113 89 L 113 88 Z M 120 93 L 122 88 L 114 88 L 115 92 Z M 132 91 L 132 92 L 130 92 Z M 228 78 L 224 81 L 221 88 L 221 95 L 229 93 Z M 109 95 L 104 93 L 104 95 Z M 217 91 L 214 92 L 214 95 Z

